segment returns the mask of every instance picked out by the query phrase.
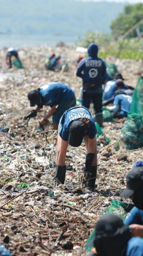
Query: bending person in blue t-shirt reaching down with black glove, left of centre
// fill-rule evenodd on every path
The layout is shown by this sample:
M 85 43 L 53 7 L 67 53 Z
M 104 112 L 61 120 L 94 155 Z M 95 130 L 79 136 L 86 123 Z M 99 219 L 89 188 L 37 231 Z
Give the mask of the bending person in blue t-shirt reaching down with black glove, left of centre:
M 30 101 L 30 106 L 34 107 L 36 105 L 36 107 L 34 110 L 31 110 L 24 119 L 37 116 L 37 112 L 43 108 L 43 105 L 50 106 L 51 110 L 40 120 L 40 125 L 45 125 L 46 120 L 49 119 L 50 116 L 53 116 L 54 130 L 58 129 L 59 120 L 64 111 L 76 105 L 74 91 L 66 84 L 59 82 L 49 83 L 37 90 L 32 90 L 28 92 L 27 97 Z

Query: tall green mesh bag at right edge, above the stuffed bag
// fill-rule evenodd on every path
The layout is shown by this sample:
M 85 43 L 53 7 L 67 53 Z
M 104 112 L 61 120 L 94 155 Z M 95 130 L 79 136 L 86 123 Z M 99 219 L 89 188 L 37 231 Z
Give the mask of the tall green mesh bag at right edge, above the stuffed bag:
M 136 88 L 133 93 L 130 112 L 143 116 L 143 78 L 139 76 Z

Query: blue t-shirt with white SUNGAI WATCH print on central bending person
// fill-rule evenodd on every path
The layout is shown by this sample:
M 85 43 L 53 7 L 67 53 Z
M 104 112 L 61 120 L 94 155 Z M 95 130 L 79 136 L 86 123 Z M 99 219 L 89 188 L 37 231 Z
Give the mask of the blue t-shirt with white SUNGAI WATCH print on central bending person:
M 73 121 L 80 118 L 87 118 L 90 121 L 90 126 L 84 136 L 88 135 L 90 139 L 93 139 L 97 133 L 95 122 L 90 114 L 90 111 L 86 107 L 71 107 L 66 110 L 60 119 L 61 130 L 59 131 L 60 137 L 68 141 L 70 125 Z

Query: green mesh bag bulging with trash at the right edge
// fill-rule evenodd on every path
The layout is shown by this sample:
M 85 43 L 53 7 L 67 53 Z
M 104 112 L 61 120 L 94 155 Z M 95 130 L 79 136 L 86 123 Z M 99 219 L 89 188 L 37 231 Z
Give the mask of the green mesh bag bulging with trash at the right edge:
M 121 130 L 121 136 L 126 135 L 124 144 L 128 150 L 143 147 L 143 119 L 136 113 L 128 113 L 124 127 Z

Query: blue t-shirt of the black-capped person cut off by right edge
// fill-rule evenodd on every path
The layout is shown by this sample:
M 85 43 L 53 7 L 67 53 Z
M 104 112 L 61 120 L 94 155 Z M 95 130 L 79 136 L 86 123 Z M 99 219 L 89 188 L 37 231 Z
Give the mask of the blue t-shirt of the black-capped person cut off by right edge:
M 140 210 L 136 206 L 131 209 L 129 214 L 124 220 L 125 225 L 139 224 L 143 225 L 143 210 Z

